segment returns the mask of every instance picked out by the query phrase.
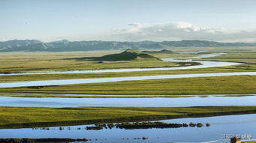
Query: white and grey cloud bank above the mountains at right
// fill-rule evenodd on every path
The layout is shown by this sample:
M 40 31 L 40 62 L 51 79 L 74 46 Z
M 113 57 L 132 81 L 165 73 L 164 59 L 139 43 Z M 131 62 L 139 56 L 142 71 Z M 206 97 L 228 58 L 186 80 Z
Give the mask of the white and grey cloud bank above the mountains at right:
M 129 28 L 113 31 L 113 39 L 119 40 L 214 40 L 220 42 L 255 42 L 255 31 L 227 32 L 226 28 L 204 28 L 188 22 L 145 26 L 141 23 L 128 24 Z

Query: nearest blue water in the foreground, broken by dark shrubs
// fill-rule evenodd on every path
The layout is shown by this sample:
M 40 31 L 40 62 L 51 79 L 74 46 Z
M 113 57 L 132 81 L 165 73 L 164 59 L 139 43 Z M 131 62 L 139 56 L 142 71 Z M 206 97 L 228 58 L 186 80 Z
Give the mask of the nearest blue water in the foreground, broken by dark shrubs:
M 87 138 L 93 143 L 120 143 L 120 142 L 229 142 L 228 139 L 221 139 L 221 134 L 242 135 L 250 134 L 256 136 L 256 114 L 252 115 L 228 115 L 209 118 L 181 118 L 164 120 L 167 123 L 210 123 L 210 127 L 188 127 L 169 129 L 140 129 L 140 130 L 120 130 L 117 128 L 105 130 L 84 130 L 87 126 L 72 126 L 70 130 L 64 127 L 53 127 L 50 130 L 8 129 L 0 130 L 0 138 Z M 77 130 L 80 128 L 80 130 Z M 83 129 L 83 130 L 82 130 Z M 146 140 L 136 140 L 134 138 L 148 137 Z M 97 141 L 95 140 L 97 139 Z

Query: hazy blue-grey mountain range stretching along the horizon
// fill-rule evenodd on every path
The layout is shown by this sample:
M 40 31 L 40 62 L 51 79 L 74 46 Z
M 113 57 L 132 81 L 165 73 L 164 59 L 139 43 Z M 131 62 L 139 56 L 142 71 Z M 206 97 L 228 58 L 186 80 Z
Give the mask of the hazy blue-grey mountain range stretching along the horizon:
M 0 42 L 0 52 L 71 52 L 111 49 L 167 49 L 170 47 L 188 46 L 256 46 L 256 43 L 218 43 L 206 40 L 181 40 L 181 41 L 141 41 L 141 42 L 116 42 L 116 41 L 69 41 L 59 40 L 44 43 L 40 40 L 8 40 Z

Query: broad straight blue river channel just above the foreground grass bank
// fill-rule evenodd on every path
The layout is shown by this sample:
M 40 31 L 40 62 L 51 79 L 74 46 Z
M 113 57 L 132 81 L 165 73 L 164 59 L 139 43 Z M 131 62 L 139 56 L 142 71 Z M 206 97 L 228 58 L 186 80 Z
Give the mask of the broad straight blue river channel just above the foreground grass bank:
M 0 106 L 17 107 L 188 107 L 255 106 L 256 96 L 247 97 L 157 97 L 157 98 L 63 98 L 0 97 Z

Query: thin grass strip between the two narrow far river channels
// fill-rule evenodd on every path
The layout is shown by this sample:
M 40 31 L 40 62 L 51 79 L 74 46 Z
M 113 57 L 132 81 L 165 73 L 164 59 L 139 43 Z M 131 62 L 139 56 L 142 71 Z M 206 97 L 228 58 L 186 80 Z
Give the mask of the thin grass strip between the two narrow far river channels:
M 20 82 L 36 80 L 58 80 L 58 79 L 93 79 L 107 77 L 125 77 L 125 76 L 157 76 L 171 74 L 190 74 L 190 73 L 228 73 L 228 72 L 248 72 L 254 70 L 238 69 L 235 67 L 212 67 L 190 70 L 158 70 L 158 71 L 140 71 L 140 72 L 116 72 L 116 73 L 72 73 L 72 74 L 41 74 L 41 75 L 19 75 L 19 76 L 0 76 L 0 82 Z

